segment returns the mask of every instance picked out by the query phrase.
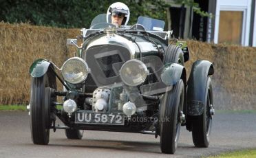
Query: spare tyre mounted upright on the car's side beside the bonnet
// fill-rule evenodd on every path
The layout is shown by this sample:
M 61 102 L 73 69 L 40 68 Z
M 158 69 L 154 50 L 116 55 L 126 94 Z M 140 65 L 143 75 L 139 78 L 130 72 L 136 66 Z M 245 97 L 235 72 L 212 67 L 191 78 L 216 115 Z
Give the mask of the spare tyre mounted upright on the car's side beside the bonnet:
M 164 54 L 163 63 L 178 63 L 184 65 L 182 49 L 176 45 L 168 45 L 167 51 Z

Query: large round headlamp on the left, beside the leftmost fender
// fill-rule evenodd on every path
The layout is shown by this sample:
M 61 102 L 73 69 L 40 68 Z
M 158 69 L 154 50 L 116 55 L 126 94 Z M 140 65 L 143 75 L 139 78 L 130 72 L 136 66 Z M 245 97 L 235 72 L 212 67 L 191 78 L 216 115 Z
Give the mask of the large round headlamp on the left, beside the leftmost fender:
M 61 73 L 65 81 L 78 84 L 87 78 L 89 67 L 82 58 L 73 57 L 65 61 Z

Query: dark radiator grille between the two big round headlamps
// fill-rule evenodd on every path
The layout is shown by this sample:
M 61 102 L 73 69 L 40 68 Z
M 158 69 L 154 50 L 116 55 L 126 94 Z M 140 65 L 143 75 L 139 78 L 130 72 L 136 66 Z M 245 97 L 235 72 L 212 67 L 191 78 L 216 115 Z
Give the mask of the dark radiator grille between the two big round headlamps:
M 98 45 L 85 52 L 85 61 L 91 69 L 85 80 L 87 86 L 101 87 L 120 82 L 118 71 L 131 58 L 129 50 L 119 45 Z

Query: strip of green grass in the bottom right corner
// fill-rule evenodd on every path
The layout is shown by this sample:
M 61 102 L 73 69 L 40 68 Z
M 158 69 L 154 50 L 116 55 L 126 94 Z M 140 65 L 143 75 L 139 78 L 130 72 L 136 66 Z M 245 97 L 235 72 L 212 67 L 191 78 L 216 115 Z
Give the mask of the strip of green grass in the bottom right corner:
M 207 158 L 251 158 L 256 157 L 256 149 L 239 150 L 231 153 L 223 153 L 217 156 L 211 156 Z

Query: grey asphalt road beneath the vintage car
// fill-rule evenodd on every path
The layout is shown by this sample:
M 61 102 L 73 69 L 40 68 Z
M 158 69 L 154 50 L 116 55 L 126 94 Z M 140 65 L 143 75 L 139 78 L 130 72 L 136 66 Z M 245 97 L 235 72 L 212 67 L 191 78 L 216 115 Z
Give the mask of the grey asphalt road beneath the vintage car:
M 174 155 L 160 152 L 159 137 L 136 133 L 85 131 L 81 140 L 65 138 L 63 130 L 50 131 L 47 146 L 30 139 L 26 112 L 0 112 L 0 157 L 202 157 L 230 150 L 256 148 L 256 113 L 216 113 L 209 148 L 195 148 L 182 127 Z

